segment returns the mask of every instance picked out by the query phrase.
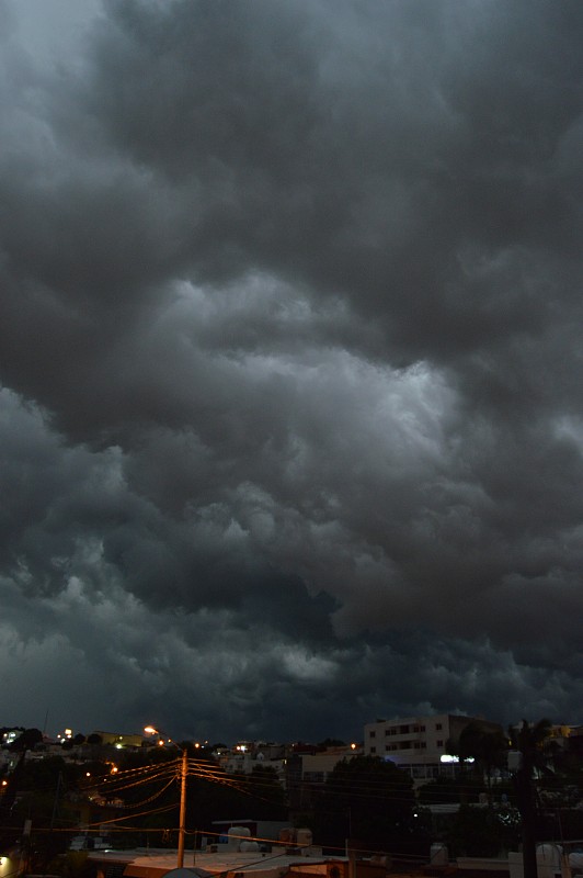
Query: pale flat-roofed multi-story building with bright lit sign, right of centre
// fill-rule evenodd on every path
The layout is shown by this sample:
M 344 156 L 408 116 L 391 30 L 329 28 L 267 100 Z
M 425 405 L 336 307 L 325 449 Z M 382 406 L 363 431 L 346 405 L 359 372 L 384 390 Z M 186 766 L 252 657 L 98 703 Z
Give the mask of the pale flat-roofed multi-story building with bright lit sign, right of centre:
M 447 743 L 457 741 L 470 723 L 485 732 L 501 731 L 495 722 L 457 713 L 377 720 L 365 725 L 364 752 L 390 759 L 414 778 L 430 779 L 447 772 L 442 759 L 447 756 Z

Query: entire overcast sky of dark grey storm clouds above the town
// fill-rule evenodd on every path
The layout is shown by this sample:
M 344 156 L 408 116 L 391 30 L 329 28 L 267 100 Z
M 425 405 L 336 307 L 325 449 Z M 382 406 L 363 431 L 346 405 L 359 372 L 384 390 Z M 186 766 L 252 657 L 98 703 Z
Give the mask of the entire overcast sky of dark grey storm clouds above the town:
M 0 724 L 583 723 L 579 0 L 2 0 Z

